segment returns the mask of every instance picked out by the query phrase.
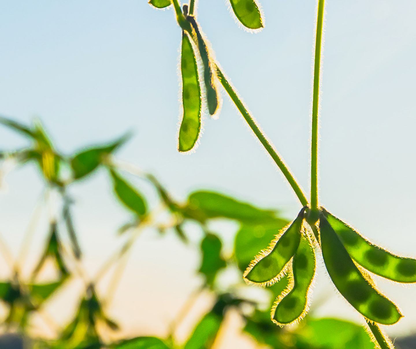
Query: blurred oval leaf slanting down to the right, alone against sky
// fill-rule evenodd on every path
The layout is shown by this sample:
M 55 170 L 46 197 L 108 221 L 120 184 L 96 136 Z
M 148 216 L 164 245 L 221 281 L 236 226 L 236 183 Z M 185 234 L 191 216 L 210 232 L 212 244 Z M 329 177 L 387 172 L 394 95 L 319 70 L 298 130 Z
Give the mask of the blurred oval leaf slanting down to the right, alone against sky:
M 139 217 L 143 217 L 147 212 L 147 205 L 144 197 L 114 170 L 110 170 L 113 179 L 114 192 L 120 201 Z

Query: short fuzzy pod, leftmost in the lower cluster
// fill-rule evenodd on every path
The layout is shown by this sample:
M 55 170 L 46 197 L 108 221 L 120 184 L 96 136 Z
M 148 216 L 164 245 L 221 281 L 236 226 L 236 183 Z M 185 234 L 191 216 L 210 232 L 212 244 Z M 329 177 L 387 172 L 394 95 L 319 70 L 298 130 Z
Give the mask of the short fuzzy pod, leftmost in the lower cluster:
M 303 229 L 303 212 L 276 236 L 270 246 L 262 250 L 244 272 L 247 283 L 270 286 L 286 274 L 288 263 L 299 246 Z

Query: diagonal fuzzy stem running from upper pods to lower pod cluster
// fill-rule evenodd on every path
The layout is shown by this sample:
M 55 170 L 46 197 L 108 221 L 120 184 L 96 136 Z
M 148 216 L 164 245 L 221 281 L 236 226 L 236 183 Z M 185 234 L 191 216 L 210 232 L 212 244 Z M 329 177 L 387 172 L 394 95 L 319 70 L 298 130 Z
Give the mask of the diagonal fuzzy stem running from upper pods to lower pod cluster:
M 295 191 L 302 206 L 306 206 L 308 204 L 308 200 L 306 199 L 305 194 L 303 190 L 300 188 L 299 184 L 297 184 L 295 177 L 293 177 L 292 173 L 287 168 L 285 162 L 283 162 L 282 158 L 279 154 L 277 154 L 277 151 L 274 149 L 273 145 L 267 140 L 265 135 L 262 133 L 256 122 L 254 121 L 253 117 L 250 115 L 247 108 L 244 106 L 243 102 L 238 97 L 233 87 L 230 85 L 230 83 L 225 78 L 224 74 L 221 72 L 218 65 L 215 65 L 215 67 L 217 70 L 218 78 L 220 79 L 220 82 L 223 85 L 225 91 L 228 93 L 231 100 L 234 102 L 235 106 L 240 111 L 241 115 L 243 115 L 245 121 L 248 123 L 248 126 L 250 126 L 251 130 L 253 130 L 254 134 L 256 135 L 260 143 L 263 145 L 263 147 L 265 147 L 265 150 L 272 157 L 277 167 L 280 168 L 283 175 L 289 182 L 290 186 Z

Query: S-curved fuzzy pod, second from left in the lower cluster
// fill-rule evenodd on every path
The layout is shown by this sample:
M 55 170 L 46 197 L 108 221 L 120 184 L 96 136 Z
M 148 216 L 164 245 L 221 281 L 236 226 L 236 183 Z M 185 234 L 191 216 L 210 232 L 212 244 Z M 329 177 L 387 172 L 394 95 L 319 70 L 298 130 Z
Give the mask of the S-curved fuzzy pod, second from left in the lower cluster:
M 308 311 L 308 291 L 315 275 L 316 259 L 312 242 L 303 234 L 299 247 L 293 256 L 292 290 L 282 292 L 273 304 L 271 317 L 280 326 L 299 322 Z

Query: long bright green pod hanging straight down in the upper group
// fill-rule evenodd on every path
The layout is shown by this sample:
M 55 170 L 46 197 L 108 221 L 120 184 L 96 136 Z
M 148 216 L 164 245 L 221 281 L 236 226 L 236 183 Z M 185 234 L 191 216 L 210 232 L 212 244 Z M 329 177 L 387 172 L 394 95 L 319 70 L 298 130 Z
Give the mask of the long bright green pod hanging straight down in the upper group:
M 201 87 L 195 53 L 185 32 L 182 32 L 181 74 L 183 118 L 178 150 L 187 152 L 195 146 L 201 130 Z

